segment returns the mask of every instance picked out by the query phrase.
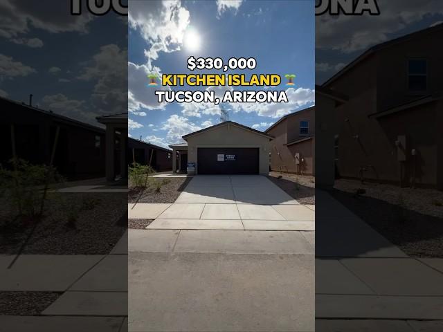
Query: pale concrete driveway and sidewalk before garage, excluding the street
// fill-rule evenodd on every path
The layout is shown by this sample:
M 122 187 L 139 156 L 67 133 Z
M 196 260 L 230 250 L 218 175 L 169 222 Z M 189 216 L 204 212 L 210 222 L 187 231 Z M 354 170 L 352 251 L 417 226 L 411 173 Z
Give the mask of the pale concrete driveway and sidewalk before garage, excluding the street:
M 300 205 L 264 176 L 195 176 L 173 204 L 136 204 L 129 218 L 149 229 L 314 231 L 314 206 Z

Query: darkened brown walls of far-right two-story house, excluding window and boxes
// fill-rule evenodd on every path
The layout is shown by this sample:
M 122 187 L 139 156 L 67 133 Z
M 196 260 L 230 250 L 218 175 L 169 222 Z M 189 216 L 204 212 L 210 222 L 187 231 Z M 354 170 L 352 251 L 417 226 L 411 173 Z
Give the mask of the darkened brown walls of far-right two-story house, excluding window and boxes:
M 426 93 L 442 89 L 443 82 L 437 79 L 442 75 L 442 69 L 437 69 L 437 59 L 441 55 L 441 49 L 431 39 L 416 37 L 377 51 L 327 84 L 327 88 L 350 98 L 334 111 L 340 176 L 360 178 L 361 169 L 364 169 L 365 179 L 399 184 L 401 167 L 402 184 L 408 185 L 414 176 L 410 149 L 417 149 L 415 183 L 437 186 L 437 161 L 442 160 L 439 156 L 442 150 L 437 146 L 437 132 L 441 129 L 437 129 L 436 111 L 441 109 L 442 103 L 431 102 L 378 119 L 368 116 L 420 97 L 407 90 L 409 57 L 428 58 L 429 89 Z M 395 145 L 398 135 L 406 135 L 408 145 L 407 160 L 402 164 Z

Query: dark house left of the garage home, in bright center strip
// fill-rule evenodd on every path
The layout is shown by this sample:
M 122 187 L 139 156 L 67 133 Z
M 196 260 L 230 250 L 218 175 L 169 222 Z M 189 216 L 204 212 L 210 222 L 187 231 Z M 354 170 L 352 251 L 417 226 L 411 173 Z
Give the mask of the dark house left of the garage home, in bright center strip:
M 129 165 L 135 161 L 141 165 L 150 165 L 156 172 L 172 170 L 172 150 L 134 138 L 129 138 L 127 147 Z

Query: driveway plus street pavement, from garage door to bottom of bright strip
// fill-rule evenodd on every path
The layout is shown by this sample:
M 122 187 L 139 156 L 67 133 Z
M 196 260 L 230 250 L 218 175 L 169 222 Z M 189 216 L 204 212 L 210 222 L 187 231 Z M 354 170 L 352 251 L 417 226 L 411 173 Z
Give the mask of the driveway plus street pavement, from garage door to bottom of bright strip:
M 129 205 L 129 331 L 314 331 L 314 213 L 264 176 Z

